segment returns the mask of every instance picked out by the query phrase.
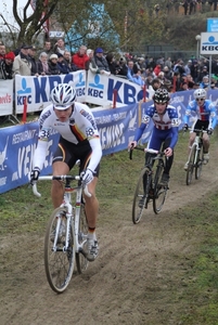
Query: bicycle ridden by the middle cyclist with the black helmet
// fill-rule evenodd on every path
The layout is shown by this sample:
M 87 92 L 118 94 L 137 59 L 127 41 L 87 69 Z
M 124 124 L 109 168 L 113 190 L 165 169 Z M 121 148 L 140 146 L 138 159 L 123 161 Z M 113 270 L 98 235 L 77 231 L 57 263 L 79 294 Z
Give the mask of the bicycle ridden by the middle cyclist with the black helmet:
M 148 209 L 150 202 L 153 202 L 154 212 L 156 214 L 161 212 L 169 187 L 168 185 L 161 184 L 162 173 L 165 168 L 164 152 L 138 146 L 136 146 L 134 150 L 155 154 L 155 156 L 149 156 L 145 167 L 141 170 L 134 191 L 132 203 L 132 222 L 137 224 L 140 222 L 144 209 Z M 132 152 L 133 150 L 130 150 L 130 159 L 132 159 Z M 156 171 L 154 172 L 155 168 Z

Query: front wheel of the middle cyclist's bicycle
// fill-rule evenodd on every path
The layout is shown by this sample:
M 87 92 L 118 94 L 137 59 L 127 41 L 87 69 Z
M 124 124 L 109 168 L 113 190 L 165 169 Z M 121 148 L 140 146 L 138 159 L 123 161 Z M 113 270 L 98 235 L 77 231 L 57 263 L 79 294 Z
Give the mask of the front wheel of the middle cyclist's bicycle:
M 143 168 L 134 191 L 133 203 L 132 203 L 132 222 L 139 223 L 144 208 L 148 208 L 149 204 L 149 190 L 151 186 L 151 174 L 148 168 Z

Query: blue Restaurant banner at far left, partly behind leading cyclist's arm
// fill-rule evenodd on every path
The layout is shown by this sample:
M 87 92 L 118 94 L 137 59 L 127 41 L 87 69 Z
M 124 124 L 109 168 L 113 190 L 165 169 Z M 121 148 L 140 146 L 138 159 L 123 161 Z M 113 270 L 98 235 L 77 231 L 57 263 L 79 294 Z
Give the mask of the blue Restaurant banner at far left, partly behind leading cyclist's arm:
M 38 138 L 38 123 L 31 122 L 0 129 L 0 193 L 28 183 L 31 158 Z M 51 172 L 52 152 L 59 140 L 53 133 L 42 174 Z

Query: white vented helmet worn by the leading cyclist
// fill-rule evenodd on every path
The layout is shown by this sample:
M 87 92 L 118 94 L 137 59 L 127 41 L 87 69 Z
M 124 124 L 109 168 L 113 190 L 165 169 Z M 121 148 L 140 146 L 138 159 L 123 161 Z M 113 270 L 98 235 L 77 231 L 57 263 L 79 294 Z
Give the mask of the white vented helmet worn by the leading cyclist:
M 74 104 L 75 100 L 76 91 L 68 83 L 61 83 L 51 91 L 51 101 L 56 109 L 67 109 Z

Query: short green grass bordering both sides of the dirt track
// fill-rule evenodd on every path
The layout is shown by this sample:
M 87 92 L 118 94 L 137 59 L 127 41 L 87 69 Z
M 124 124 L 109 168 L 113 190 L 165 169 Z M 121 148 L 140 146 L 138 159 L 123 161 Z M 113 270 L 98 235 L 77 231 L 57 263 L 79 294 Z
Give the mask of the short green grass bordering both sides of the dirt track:
M 177 168 L 177 160 L 185 161 L 188 136 L 180 134 L 176 148 L 175 165 L 171 178 L 184 181 L 184 171 Z M 217 135 L 211 143 L 217 141 Z M 115 205 L 121 207 L 132 199 L 136 181 L 139 170 L 142 167 L 144 157 L 141 153 L 134 153 L 133 160 L 128 158 L 127 151 L 103 157 L 101 164 L 101 177 L 98 186 L 100 200 L 99 223 L 106 227 L 108 220 L 106 212 Z M 192 184 L 193 191 L 201 191 L 197 183 Z M 28 185 L 4 193 L 0 196 L 0 232 L 1 236 L 16 234 L 38 233 L 43 235 L 49 214 L 52 211 L 50 198 L 50 184 L 43 182 L 38 184 L 42 197 L 34 197 Z M 178 324 L 200 325 L 218 324 L 218 198 L 217 192 L 207 195 L 204 199 L 194 202 L 193 205 L 185 205 L 178 211 L 171 212 L 171 220 L 175 224 L 180 223 L 187 230 L 194 229 L 192 236 L 193 251 L 182 257 L 182 278 L 179 282 L 177 292 L 171 292 L 171 300 L 179 301 L 180 306 L 189 306 L 184 311 L 178 310 Z M 117 205 L 118 204 L 118 205 Z M 104 216 L 105 212 L 105 216 Z M 117 211 L 114 211 L 116 214 Z M 129 216 L 127 217 L 130 218 Z M 178 224 L 177 224 L 178 225 Z M 180 259 L 181 257 L 177 257 Z M 181 271 L 181 270 L 179 270 Z M 169 275 L 170 276 L 170 272 Z M 166 278 L 167 281 L 167 278 Z M 169 280 L 168 280 L 169 281 Z M 169 295 L 169 292 L 167 292 Z M 170 297 L 169 297 L 170 299 Z

